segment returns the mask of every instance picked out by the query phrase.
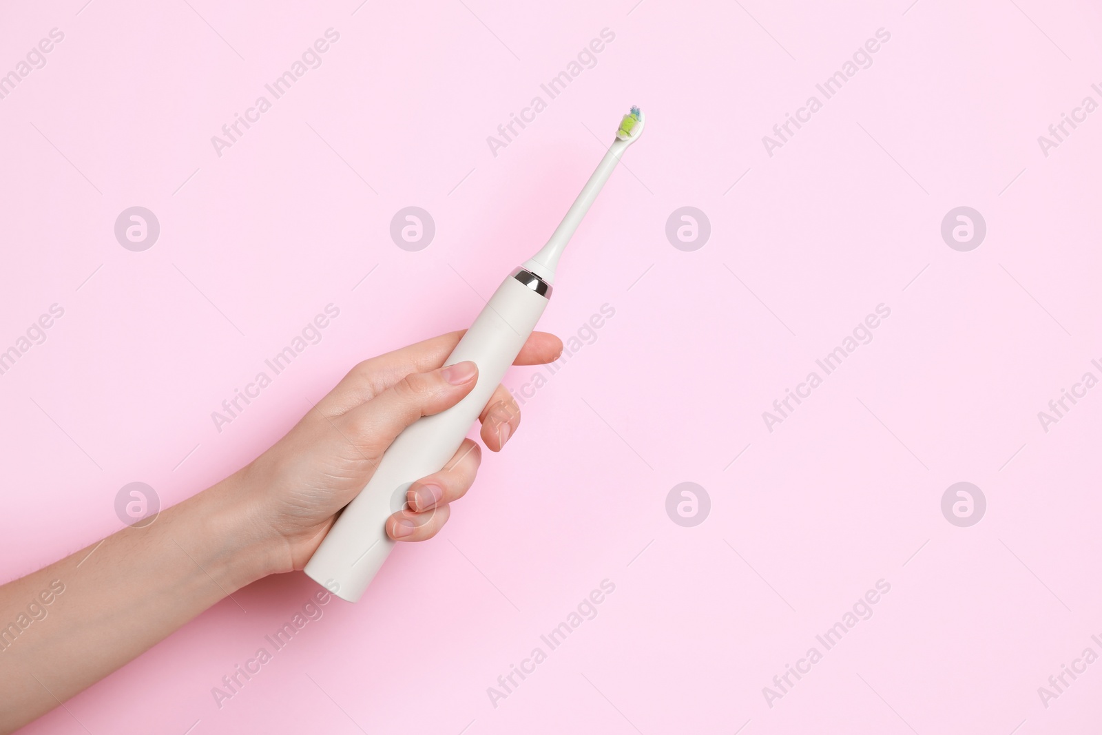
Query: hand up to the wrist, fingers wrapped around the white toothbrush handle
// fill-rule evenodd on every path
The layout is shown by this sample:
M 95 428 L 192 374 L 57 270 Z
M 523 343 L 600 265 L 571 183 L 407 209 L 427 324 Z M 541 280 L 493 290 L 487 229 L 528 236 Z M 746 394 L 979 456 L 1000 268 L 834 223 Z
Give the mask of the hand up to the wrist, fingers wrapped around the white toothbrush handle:
M 268 549 L 268 573 L 302 569 L 398 434 L 471 392 L 474 363 L 441 367 L 462 336 L 453 332 L 360 363 L 283 439 L 228 478 L 235 494 L 248 496 L 250 526 L 266 540 L 260 545 Z M 516 364 L 550 363 L 561 353 L 558 337 L 536 332 Z M 498 452 L 517 431 L 520 409 L 498 386 L 479 420 L 483 442 Z M 432 538 L 447 521 L 449 504 L 471 487 L 480 462 L 479 446 L 464 440 L 442 471 L 410 487 L 409 509 L 387 520 L 390 538 Z

